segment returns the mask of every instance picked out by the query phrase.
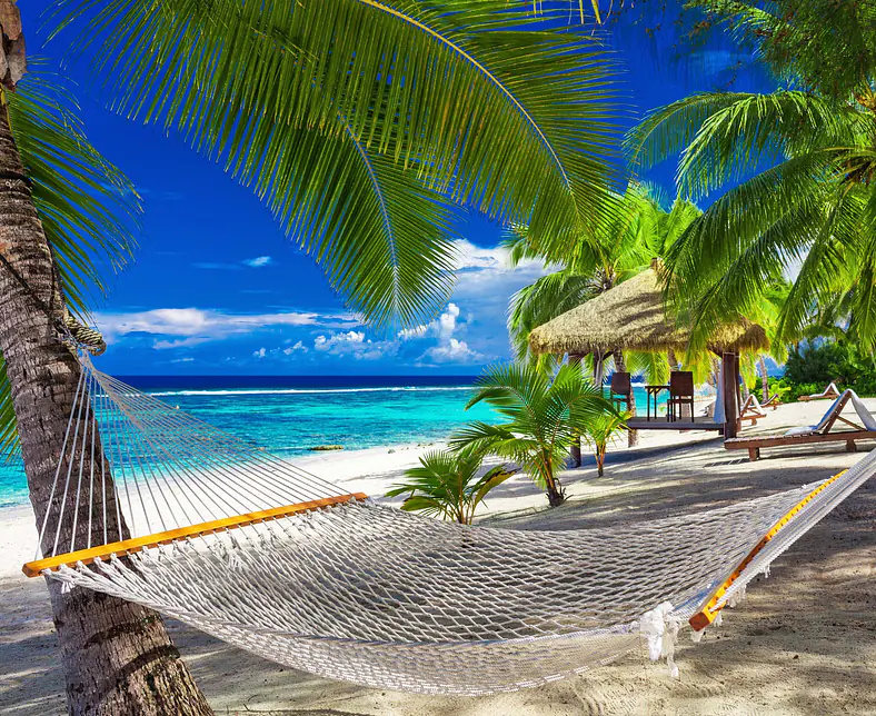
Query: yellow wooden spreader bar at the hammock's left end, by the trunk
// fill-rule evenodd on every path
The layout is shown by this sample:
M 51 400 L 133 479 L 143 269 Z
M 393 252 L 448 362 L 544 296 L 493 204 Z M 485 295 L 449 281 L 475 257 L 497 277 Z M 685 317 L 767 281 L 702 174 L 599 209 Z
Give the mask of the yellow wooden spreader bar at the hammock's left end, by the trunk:
M 337 497 L 325 497 L 322 499 L 310 500 L 309 503 L 297 503 L 296 505 L 286 505 L 285 507 L 272 507 L 258 513 L 247 513 L 246 515 L 237 515 L 236 517 L 223 517 L 222 519 L 215 519 L 209 523 L 199 523 L 189 527 L 179 527 L 178 529 L 169 529 L 163 533 L 155 533 L 153 535 L 146 535 L 145 537 L 135 537 L 131 539 L 122 539 L 121 541 L 113 541 L 109 545 L 99 545 L 89 549 L 78 549 L 70 551 L 66 555 L 56 555 L 54 557 L 46 557 L 29 561 L 26 564 L 21 571 L 28 577 L 38 577 L 44 569 L 58 569 L 61 565 L 74 566 L 78 563 L 86 565 L 91 564 L 100 557 L 106 559 L 111 555 L 123 557 L 133 551 L 147 547 L 158 547 L 158 545 L 168 545 L 177 539 L 185 539 L 186 537 L 200 537 L 202 535 L 211 535 L 217 531 L 226 529 L 237 529 L 238 527 L 246 527 L 247 525 L 257 525 L 267 519 L 276 519 L 278 517 L 288 517 L 298 513 L 310 513 L 315 509 L 329 507 L 331 505 L 339 505 L 341 503 L 349 503 L 351 500 L 364 500 L 368 496 L 365 493 L 354 493 L 350 495 L 339 495 Z

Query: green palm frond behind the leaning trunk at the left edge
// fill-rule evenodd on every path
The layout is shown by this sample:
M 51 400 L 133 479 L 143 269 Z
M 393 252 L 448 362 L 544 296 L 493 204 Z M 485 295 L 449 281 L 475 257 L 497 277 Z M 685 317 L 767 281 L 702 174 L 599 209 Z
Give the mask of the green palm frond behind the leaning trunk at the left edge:
M 31 60 L 31 69 L 39 61 Z M 136 248 L 142 213 L 128 178 L 88 140 L 79 106 L 58 78 L 28 73 L 6 92 L 9 123 L 68 306 L 84 315 Z M 16 415 L 0 358 L 0 454 L 18 447 Z

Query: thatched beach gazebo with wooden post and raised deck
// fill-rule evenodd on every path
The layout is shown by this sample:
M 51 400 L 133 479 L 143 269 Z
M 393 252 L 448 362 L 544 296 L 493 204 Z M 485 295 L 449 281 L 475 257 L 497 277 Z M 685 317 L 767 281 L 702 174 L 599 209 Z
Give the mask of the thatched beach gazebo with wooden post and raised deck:
M 603 359 L 616 350 L 684 354 L 690 331 L 666 312 L 657 262 L 651 268 L 615 288 L 566 311 L 539 326 L 529 335 L 529 347 L 535 355 L 568 354 L 580 359 L 595 354 Z M 725 437 L 737 431 L 739 417 L 739 354 L 746 350 L 767 350 L 769 339 L 761 326 L 740 318 L 720 326 L 708 340 L 710 351 L 721 358 L 724 369 L 724 422 L 698 422 L 691 416 L 687 422 L 645 422 L 636 420 L 637 429 L 707 429 L 723 430 Z

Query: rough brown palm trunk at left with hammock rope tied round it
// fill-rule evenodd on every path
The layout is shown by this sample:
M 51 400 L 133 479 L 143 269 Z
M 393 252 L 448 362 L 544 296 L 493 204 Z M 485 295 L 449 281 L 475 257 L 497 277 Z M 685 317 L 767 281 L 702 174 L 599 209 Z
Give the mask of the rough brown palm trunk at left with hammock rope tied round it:
M 0 352 L 12 386 L 30 500 L 40 526 L 49 509 L 79 364 L 58 339 L 54 324 L 63 308 L 57 272 L 4 109 L 0 109 Z M 56 504 L 61 499 L 57 495 Z M 74 509 L 74 503 L 71 494 L 68 508 Z M 86 525 L 80 529 L 88 529 L 87 520 L 80 523 Z M 62 594 L 56 581 L 48 587 L 71 714 L 212 713 L 155 611 L 90 589 Z

